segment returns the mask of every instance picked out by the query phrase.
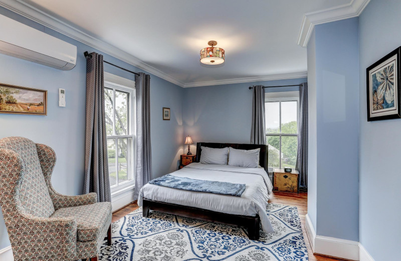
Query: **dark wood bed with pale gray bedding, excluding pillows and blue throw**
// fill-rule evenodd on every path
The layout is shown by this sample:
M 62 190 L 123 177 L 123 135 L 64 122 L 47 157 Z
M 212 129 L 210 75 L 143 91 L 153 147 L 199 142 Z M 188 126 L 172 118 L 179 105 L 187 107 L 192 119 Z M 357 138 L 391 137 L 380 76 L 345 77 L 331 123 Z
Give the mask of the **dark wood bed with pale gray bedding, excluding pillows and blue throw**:
M 201 147 L 240 150 L 260 149 L 259 168 L 243 168 L 228 165 L 199 163 Z M 149 210 L 196 218 L 211 222 L 244 227 L 248 237 L 259 239 L 260 227 L 266 233 L 273 232 L 273 227 L 266 214 L 272 184 L 266 172 L 267 150 L 265 145 L 197 143 L 196 162 L 181 170 L 170 173 L 172 176 L 191 179 L 222 181 L 246 184 L 241 197 L 205 192 L 179 190 L 153 184 L 144 185 L 139 193 L 138 205 L 142 206 L 143 216 L 148 217 Z

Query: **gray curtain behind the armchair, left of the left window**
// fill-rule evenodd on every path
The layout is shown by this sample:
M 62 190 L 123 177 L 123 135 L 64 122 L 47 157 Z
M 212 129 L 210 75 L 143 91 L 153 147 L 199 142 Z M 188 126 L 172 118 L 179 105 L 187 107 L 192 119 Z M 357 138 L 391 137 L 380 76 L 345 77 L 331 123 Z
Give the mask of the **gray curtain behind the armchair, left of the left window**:
M 103 55 L 91 53 L 86 60 L 84 193 L 96 192 L 98 202 L 111 201 L 103 89 Z

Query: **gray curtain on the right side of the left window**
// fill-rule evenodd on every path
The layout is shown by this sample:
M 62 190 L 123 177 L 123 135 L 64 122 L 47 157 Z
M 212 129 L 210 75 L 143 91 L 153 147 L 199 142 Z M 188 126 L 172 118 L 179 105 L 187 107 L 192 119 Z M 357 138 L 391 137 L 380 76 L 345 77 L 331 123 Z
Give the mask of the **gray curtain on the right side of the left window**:
M 152 148 L 150 145 L 150 75 L 135 76 L 136 93 L 136 170 L 135 199 L 139 190 L 152 178 Z

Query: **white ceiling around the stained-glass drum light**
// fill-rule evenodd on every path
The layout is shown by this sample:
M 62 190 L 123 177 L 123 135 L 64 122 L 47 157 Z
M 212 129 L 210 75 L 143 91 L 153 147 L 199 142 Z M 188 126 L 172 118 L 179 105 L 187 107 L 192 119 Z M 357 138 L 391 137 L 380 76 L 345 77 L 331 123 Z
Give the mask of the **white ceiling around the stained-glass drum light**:
M 305 13 L 351 0 L 19 0 L 136 57 L 181 85 L 304 75 L 297 45 Z M 199 62 L 210 40 L 226 51 L 223 65 Z M 295 73 L 295 74 L 294 74 Z M 297 74 L 298 73 L 298 74 Z M 256 78 L 254 78 L 256 77 Z M 241 80 L 243 79 L 243 80 Z M 236 81 L 234 80 L 234 81 Z M 209 85 L 208 83 L 208 85 Z

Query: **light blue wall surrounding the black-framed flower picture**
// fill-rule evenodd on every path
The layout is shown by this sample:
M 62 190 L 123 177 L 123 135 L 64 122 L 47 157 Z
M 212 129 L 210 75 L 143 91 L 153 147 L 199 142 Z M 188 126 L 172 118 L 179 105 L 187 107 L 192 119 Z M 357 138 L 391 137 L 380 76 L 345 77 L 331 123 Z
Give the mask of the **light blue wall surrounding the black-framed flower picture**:
M 359 17 L 359 239 L 376 261 L 401 256 L 401 175 L 388 168 L 401 158 L 401 119 L 367 122 L 366 68 L 401 45 L 400 10 L 371 0 Z

